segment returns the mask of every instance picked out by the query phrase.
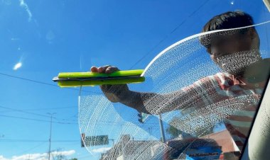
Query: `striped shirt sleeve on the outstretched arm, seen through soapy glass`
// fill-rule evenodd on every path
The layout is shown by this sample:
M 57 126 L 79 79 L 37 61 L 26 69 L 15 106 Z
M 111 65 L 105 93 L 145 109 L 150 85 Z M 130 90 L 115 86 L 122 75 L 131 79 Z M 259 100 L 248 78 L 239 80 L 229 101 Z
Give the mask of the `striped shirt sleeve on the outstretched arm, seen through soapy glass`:
M 171 93 L 142 93 L 144 108 L 141 112 L 158 115 L 173 110 L 210 105 L 222 98 L 217 96 L 218 90 L 220 85 L 215 76 L 207 76 Z

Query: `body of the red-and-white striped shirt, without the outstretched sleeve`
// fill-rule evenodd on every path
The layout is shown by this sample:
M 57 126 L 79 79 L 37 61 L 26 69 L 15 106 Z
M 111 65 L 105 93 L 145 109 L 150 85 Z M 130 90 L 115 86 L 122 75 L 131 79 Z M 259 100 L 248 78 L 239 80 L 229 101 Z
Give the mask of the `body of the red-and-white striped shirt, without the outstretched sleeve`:
M 229 130 L 239 151 L 242 151 L 259 105 L 261 93 L 264 91 L 265 82 L 246 84 L 232 75 L 221 73 L 215 75 L 215 80 L 220 86 L 220 92 L 225 91 L 227 94 L 223 95 L 222 98 L 229 98 L 232 95 L 237 98 L 245 98 L 244 106 L 234 110 L 234 113 L 228 115 L 225 120 L 227 130 Z

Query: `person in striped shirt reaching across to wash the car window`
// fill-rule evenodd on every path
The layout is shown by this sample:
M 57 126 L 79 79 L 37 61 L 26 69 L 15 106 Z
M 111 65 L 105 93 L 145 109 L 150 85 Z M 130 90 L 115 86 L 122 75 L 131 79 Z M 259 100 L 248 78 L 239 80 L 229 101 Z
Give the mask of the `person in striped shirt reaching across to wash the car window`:
M 212 30 L 242 28 L 233 34 L 207 34 L 200 37 L 210 58 L 222 72 L 204 77 L 190 86 L 171 93 L 131 91 L 126 84 L 102 85 L 104 95 L 114 103 L 123 103 L 140 113 L 161 114 L 181 108 L 202 108 L 212 104 L 232 103 L 242 112 L 227 115 L 225 126 L 242 151 L 269 78 L 270 59 L 262 59 L 260 39 L 252 16 L 243 11 L 228 11 L 210 19 L 202 33 Z M 91 67 L 91 72 L 112 73 L 117 67 Z

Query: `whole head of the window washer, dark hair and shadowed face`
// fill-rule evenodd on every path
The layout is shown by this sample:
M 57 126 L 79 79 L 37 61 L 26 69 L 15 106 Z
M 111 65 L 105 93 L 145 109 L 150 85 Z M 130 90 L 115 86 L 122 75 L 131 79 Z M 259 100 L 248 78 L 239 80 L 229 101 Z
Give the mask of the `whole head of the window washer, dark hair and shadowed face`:
M 259 55 L 259 35 L 254 28 L 252 16 L 242 11 L 228 11 L 210 19 L 202 28 L 202 33 L 212 30 L 224 30 L 203 35 L 200 42 L 207 49 L 211 59 L 229 74 L 240 74 L 244 67 L 257 62 Z M 247 27 L 247 28 L 245 28 Z M 239 64 L 238 70 L 228 62 Z M 234 71 L 232 71 L 234 67 Z M 241 71 L 240 71 L 241 70 Z

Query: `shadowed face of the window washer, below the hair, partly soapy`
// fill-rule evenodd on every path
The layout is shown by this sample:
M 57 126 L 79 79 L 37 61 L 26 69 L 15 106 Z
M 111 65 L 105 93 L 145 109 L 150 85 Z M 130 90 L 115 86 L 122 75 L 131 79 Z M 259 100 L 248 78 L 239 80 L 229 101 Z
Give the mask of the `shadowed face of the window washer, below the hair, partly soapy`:
M 259 52 L 257 52 L 259 37 L 257 33 L 252 32 L 249 30 L 245 34 L 234 33 L 213 38 L 207 52 L 224 72 L 234 75 L 241 74 L 245 67 L 257 62 L 260 58 Z

